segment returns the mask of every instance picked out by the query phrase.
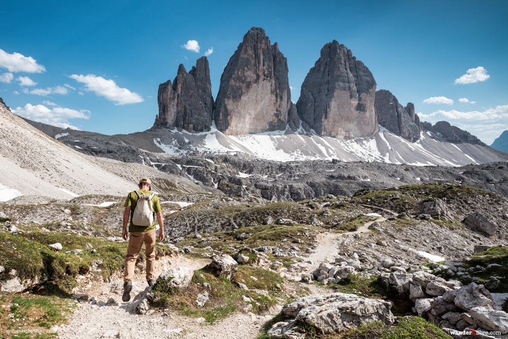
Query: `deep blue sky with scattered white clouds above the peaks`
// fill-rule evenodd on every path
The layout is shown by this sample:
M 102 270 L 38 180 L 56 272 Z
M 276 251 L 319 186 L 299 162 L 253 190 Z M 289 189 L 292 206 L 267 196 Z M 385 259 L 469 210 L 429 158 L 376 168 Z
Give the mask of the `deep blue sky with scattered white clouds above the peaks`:
M 9 1 L 0 97 L 16 114 L 103 134 L 144 131 L 157 89 L 207 55 L 220 76 L 250 27 L 288 59 L 292 101 L 326 43 L 370 69 L 421 120 L 491 144 L 508 129 L 508 1 Z

